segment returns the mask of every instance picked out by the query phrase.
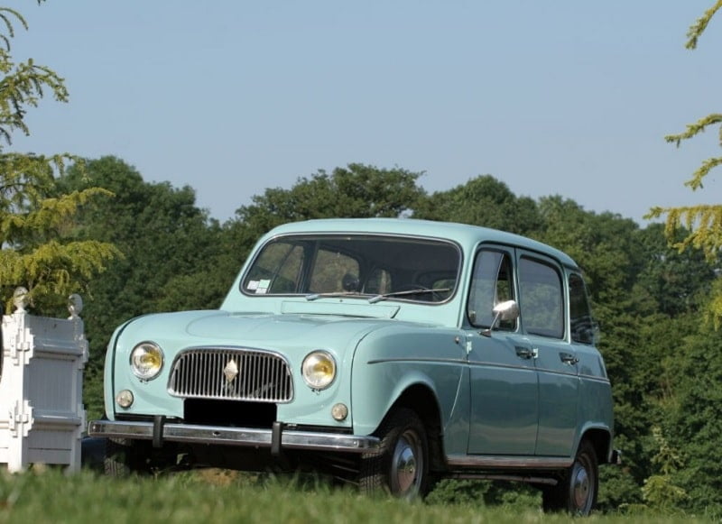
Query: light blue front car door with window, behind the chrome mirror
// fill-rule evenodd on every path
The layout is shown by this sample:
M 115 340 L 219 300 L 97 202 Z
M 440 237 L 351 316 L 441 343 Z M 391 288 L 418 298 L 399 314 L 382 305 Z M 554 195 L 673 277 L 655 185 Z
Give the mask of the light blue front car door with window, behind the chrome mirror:
M 534 453 L 539 407 L 532 345 L 515 319 L 486 331 L 495 304 L 517 299 L 514 260 L 514 248 L 487 244 L 474 262 L 467 301 L 469 454 Z

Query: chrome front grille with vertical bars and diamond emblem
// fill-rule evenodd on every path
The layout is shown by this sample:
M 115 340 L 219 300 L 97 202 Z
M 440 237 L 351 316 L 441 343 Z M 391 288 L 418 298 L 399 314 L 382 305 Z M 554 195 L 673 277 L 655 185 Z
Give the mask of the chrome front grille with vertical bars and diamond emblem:
M 289 402 L 293 381 L 288 363 L 279 354 L 196 348 L 176 357 L 168 391 L 185 399 Z

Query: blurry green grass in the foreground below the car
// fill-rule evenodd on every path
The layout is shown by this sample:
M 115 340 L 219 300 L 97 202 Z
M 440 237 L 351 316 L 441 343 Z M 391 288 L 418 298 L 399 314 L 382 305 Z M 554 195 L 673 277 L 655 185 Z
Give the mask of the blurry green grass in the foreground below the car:
M 366 523 L 554 523 L 564 515 L 538 508 L 473 504 L 409 503 L 368 497 L 327 483 L 233 472 L 179 473 L 128 479 L 83 471 L 65 475 L 57 469 L 0 474 L 0 522 L 79 524 L 143 522 Z M 586 521 L 708 522 L 690 516 L 659 514 L 593 515 Z

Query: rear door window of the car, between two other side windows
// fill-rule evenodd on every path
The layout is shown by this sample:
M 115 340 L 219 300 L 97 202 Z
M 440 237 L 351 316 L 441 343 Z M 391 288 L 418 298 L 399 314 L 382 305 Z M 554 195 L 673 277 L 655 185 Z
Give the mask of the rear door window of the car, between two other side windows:
M 528 257 L 519 261 L 519 307 L 531 335 L 564 336 L 564 301 L 559 271 Z

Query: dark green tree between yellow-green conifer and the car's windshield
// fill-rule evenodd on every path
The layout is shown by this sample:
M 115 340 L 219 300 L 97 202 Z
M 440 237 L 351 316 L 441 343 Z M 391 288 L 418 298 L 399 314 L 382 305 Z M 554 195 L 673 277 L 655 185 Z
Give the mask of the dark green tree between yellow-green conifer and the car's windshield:
M 58 181 L 69 195 L 91 188 L 116 196 L 88 201 L 79 209 L 72 237 L 79 243 L 114 244 L 123 254 L 101 278 L 88 284 L 83 318 L 90 345 L 86 386 L 99 391 L 108 338 L 125 320 L 163 310 L 218 308 L 240 262 L 218 274 L 220 250 L 216 221 L 195 205 L 191 188 L 147 183 L 140 173 L 115 157 L 72 166 Z M 102 414 L 102 396 L 86 394 L 93 416 Z

